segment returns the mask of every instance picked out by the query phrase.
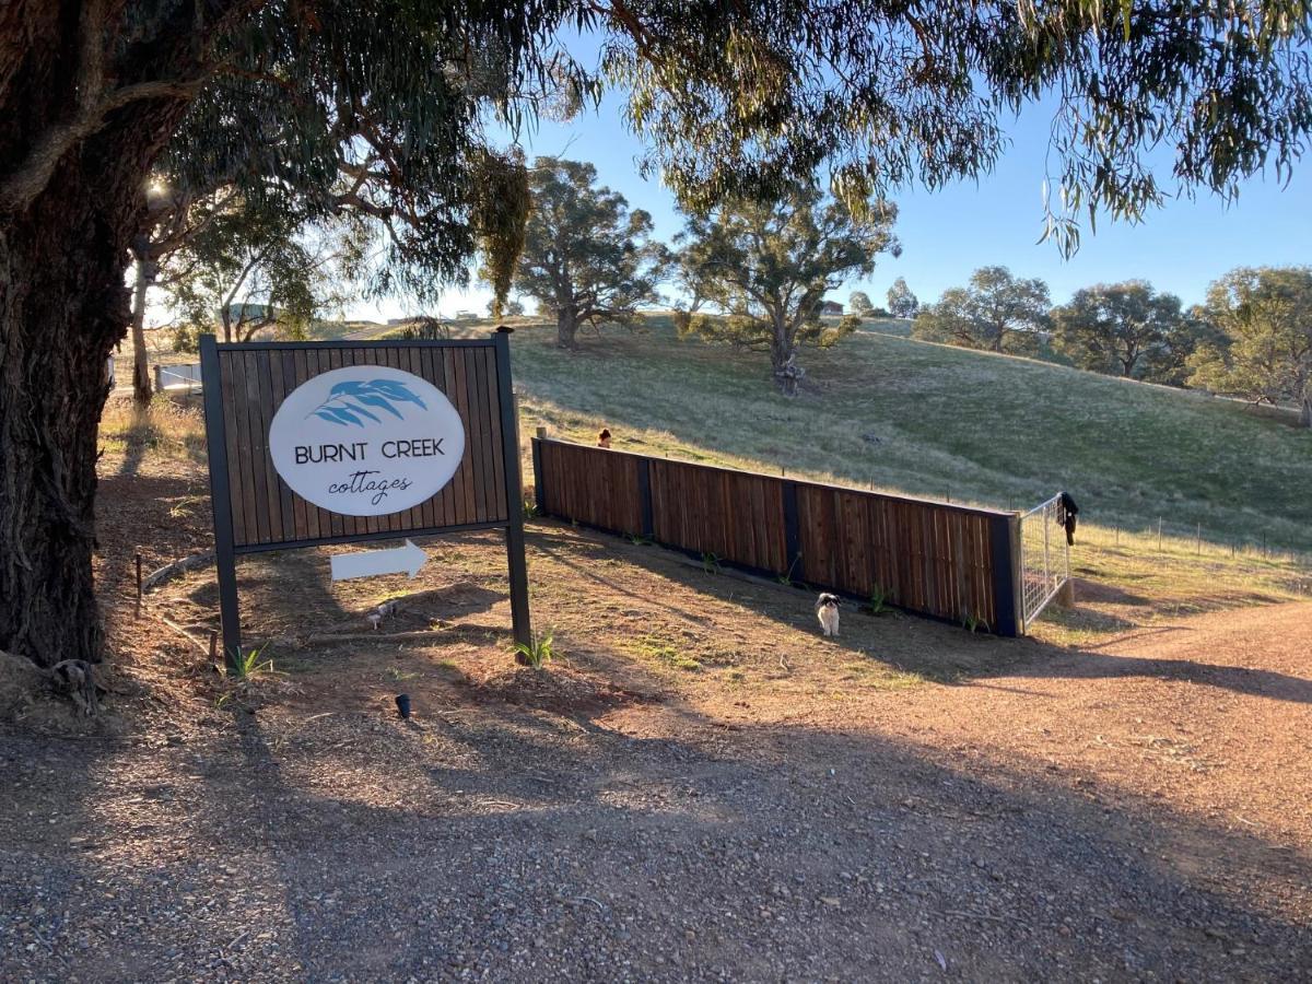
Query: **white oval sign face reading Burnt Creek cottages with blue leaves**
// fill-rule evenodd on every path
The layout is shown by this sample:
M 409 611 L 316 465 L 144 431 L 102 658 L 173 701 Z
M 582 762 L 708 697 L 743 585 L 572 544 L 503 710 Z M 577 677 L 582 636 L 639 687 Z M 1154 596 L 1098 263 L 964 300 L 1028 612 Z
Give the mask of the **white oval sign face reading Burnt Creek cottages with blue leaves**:
M 287 394 L 269 425 L 269 454 L 302 499 L 345 516 L 386 516 L 451 480 L 464 424 L 426 379 L 349 366 Z

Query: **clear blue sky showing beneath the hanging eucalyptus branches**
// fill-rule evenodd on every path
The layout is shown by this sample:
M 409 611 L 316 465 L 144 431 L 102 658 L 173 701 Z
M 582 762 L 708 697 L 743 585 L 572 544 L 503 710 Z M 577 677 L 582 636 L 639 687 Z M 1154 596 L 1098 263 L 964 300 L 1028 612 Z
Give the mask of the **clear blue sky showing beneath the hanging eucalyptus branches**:
M 883 304 L 888 286 L 901 276 L 924 303 L 963 283 L 977 266 L 1001 264 L 1017 276 L 1042 277 L 1055 303 L 1081 286 L 1130 278 L 1148 279 L 1191 303 L 1203 299 L 1208 282 L 1235 266 L 1312 262 L 1312 159 L 1295 169 L 1286 188 L 1270 174 L 1245 182 L 1239 201 L 1229 206 L 1199 193 L 1193 201 L 1169 201 L 1139 226 L 1099 222 L 1096 235 L 1084 228 L 1080 252 L 1064 260 L 1052 243 L 1036 243 L 1048 123 L 1044 109 L 1035 106 L 1009 125 L 1010 148 L 977 184 L 896 193 L 903 255 L 882 257 L 872 277 L 829 297 L 846 300 L 850 291 L 865 290 L 875 304 Z M 639 177 L 642 143 L 625 129 L 617 97 L 569 123 L 541 123 L 534 133 L 522 134 L 521 143 L 530 157 L 590 160 L 602 184 L 652 214 L 659 237 L 668 240 L 682 227 L 670 193 L 656 180 Z M 1164 184 L 1169 185 L 1169 173 Z M 476 286 L 451 291 L 437 314 L 449 316 L 462 308 L 482 312 L 489 297 Z M 404 302 L 353 311 L 366 318 L 413 312 Z

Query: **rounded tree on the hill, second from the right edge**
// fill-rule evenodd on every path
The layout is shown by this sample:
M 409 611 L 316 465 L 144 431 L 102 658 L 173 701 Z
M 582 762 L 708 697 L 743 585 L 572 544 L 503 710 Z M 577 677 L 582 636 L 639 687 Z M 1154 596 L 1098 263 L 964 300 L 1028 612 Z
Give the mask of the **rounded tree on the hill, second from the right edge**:
M 1052 311 L 1052 344 L 1080 369 L 1174 383 L 1199 338 L 1193 320 L 1147 281 L 1098 283 Z

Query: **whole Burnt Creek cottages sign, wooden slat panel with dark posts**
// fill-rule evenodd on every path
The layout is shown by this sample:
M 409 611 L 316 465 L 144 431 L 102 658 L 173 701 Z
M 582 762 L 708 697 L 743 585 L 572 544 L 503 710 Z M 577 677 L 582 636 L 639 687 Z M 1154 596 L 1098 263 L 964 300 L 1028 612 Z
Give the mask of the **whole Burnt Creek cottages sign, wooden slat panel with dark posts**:
M 201 338 L 230 656 L 240 554 L 502 526 L 516 638 L 527 640 L 508 338 Z

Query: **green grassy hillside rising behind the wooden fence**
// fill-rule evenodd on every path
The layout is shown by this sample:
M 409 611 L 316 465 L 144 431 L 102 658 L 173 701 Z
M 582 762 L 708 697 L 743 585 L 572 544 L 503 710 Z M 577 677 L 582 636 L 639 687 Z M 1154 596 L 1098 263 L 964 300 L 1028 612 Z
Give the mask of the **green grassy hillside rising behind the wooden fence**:
M 1203 394 L 859 332 L 804 352 L 811 390 L 789 401 L 764 354 L 680 340 L 664 315 L 579 353 L 531 320 L 513 342 L 530 426 L 1002 508 L 1068 489 L 1109 530 L 1312 550 L 1312 433 Z

